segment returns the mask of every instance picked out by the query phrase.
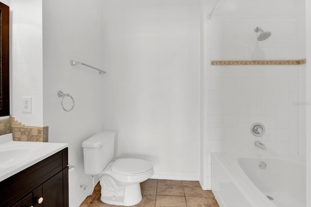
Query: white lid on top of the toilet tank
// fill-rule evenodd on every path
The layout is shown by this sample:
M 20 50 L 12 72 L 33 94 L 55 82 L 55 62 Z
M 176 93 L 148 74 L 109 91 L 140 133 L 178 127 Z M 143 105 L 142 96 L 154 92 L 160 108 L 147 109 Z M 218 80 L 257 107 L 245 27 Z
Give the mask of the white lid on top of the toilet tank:
M 92 137 L 88 138 L 82 143 L 82 147 L 86 148 L 94 148 L 94 147 L 100 147 L 104 143 L 108 142 L 109 140 L 113 139 L 116 135 L 116 132 L 114 131 L 102 131 L 99 132 Z

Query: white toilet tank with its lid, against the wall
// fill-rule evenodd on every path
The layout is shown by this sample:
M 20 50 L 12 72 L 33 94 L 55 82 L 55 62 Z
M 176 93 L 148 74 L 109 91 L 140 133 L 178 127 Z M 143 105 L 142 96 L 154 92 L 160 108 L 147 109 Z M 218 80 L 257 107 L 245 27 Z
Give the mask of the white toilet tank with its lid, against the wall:
M 102 131 L 82 143 L 85 174 L 98 175 L 111 161 L 115 135 L 113 131 Z

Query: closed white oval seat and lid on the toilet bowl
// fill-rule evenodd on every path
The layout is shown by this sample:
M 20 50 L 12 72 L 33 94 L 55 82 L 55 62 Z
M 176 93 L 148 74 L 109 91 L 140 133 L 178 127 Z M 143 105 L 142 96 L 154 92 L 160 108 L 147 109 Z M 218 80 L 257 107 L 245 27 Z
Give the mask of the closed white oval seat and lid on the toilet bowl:
M 152 164 L 143 159 L 117 159 L 111 166 L 111 171 L 119 175 L 141 175 L 153 168 Z

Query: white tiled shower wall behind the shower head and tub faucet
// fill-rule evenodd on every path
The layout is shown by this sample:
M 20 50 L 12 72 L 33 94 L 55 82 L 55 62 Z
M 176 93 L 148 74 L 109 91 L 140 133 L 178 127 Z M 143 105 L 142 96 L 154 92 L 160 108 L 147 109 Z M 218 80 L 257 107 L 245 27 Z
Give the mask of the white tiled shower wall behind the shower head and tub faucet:
M 304 155 L 305 64 L 210 65 L 219 60 L 298 60 L 305 58 L 303 18 L 207 20 L 207 183 L 210 153 Z M 257 41 L 255 27 L 271 31 Z M 300 46 L 300 47 L 299 47 Z M 262 123 L 256 138 L 250 127 Z M 262 141 L 266 151 L 254 145 Z M 209 188 L 210 186 L 208 186 Z

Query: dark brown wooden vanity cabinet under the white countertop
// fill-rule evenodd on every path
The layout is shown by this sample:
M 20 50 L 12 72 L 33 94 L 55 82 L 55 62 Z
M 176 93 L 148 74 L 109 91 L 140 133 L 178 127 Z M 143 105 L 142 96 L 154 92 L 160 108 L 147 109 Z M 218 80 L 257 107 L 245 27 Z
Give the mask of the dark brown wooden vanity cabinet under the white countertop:
M 68 148 L 0 182 L 0 207 L 68 207 Z

